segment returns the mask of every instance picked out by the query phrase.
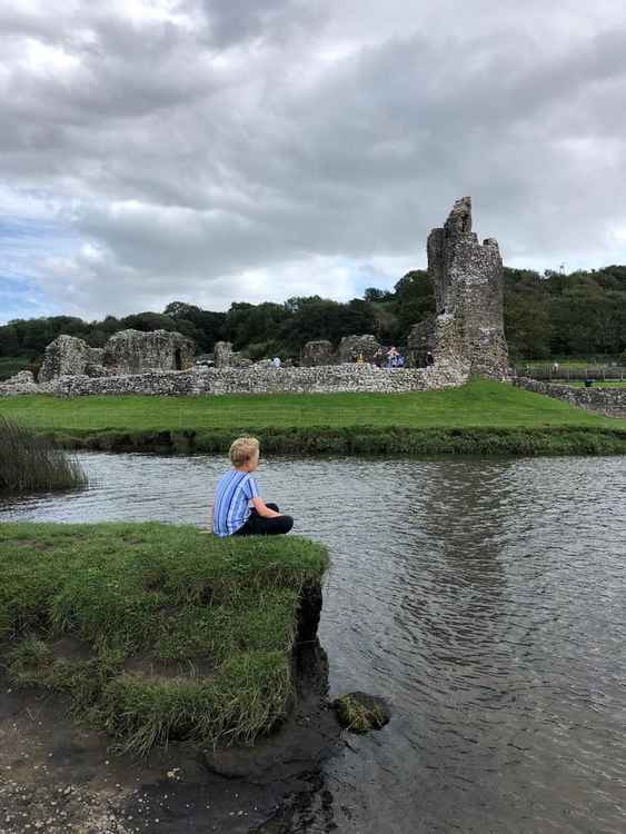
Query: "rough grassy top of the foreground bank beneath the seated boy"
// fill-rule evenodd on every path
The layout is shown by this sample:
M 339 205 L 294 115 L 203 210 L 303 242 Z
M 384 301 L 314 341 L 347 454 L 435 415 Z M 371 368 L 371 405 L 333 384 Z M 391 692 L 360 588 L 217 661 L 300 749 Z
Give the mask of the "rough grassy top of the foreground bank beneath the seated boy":
M 252 742 L 286 716 L 301 594 L 328 565 L 320 545 L 162 524 L 3 524 L 0 550 L 10 679 L 68 693 L 125 749 Z

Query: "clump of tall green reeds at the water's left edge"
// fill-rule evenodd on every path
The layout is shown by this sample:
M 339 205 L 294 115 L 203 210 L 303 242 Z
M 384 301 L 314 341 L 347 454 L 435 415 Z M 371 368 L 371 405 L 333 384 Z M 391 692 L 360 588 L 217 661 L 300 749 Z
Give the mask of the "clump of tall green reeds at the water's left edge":
M 76 458 L 0 415 L 0 493 L 78 489 L 87 475 Z

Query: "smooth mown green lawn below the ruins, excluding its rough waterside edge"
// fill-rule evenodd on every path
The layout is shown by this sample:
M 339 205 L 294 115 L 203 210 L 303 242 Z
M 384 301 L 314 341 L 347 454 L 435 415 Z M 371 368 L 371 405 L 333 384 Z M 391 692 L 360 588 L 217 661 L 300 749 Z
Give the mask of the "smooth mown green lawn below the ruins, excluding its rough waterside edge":
M 489 380 L 418 394 L 0 399 L 0 414 L 40 430 L 126 431 L 261 428 L 626 428 L 565 403 Z

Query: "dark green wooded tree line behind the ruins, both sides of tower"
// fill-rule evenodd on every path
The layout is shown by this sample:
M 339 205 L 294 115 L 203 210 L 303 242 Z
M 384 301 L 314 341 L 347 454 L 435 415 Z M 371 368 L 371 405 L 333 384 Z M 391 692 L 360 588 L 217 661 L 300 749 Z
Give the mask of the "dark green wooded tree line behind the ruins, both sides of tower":
M 312 339 L 337 345 L 342 336 L 374 334 L 382 344 L 403 346 L 410 328 L 435 311 L 425 270 L 407 272 L 393 290 L 370 287 L 347 302 L 320 296 L 284 304 L 236 301 L 225 311 L 172 301 L 162 312 L 106 316 L 83 321 L 73 316 L 14 319 L 0 327 L 0 357 L 37 360 L 60 334 L 101 347 L 118 330 L 178 330 L 197 351 L 232 341 L 251 359 L 297 358 Z M 626 266 L 570 274 L 505 268 L 505 332 L 511 359 L 615 356 L 626 350 Z

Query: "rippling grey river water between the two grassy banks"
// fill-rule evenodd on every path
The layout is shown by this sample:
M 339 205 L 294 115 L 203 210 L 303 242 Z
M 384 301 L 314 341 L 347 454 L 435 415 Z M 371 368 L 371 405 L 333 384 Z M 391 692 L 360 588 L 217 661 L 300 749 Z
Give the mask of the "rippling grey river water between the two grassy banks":
M 206 524 L 223 460 L 81 456 L 0 519 Z M 295 830 L 626 831 L 624 458 L 285 460 L 266 499 L 327 543 L 334 694 L 387 696 Z M 322 813 L 324 812 L 324 813 Z

